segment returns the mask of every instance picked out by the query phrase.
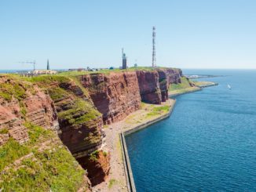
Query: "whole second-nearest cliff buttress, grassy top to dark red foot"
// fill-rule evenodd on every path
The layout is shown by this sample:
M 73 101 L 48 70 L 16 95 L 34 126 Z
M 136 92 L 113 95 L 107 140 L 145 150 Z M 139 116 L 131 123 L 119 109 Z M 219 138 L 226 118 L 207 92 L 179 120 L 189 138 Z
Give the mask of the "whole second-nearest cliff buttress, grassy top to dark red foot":
M 70 78 L 51 79 L 50 84 L 42 86 L 57 109 L 61 141 L 87 170 L 91 183 L 101 183 L 109 173 L 109 155 L 102 155 L 101 151 L 98 161 L 90 161 L 90 157 L 104 143 L 102 114 L 86 90 Z

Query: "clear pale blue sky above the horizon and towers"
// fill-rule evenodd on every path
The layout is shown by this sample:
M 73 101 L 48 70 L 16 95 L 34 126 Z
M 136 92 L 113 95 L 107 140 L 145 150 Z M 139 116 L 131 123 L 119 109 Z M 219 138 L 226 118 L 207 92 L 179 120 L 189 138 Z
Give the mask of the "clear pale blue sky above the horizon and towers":
M 254 0 L 3 0 L 0 69 L 119 67 L 256 68 Z

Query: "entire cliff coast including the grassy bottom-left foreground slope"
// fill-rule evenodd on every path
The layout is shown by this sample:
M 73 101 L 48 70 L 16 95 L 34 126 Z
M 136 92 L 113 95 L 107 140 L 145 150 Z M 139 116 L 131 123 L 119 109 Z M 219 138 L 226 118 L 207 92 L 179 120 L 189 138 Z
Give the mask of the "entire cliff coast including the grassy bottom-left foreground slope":
M 123 120 L 141 101 L 168 100 L 181 76 L 170 68 L 1 76 L 0 189 L 90 190 L 110 170 L 103 125 Z

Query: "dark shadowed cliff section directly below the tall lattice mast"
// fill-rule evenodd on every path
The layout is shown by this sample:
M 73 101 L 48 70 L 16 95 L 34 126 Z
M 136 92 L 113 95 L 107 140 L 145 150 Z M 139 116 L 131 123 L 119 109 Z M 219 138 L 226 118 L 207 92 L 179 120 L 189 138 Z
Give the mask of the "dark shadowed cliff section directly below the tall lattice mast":
M 157 71 L 136 71 L 141 100 L 145 103 L 161 103 L 159 74 Z

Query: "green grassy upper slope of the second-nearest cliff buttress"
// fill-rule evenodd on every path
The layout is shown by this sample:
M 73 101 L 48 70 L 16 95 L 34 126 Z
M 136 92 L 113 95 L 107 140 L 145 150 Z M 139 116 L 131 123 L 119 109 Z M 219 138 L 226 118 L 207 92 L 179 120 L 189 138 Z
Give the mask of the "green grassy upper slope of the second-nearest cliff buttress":
M 98 112 L 93 103 L 89 99 L 76 96 L 75 90 L 71 90 L 68 85 L 78 86 L 82 90 L 85 98 L 89 97 L 87 90 L 79 83 L 78 77 L 72 75 L 64 75 L 65 73 L 57 75 L 42 75 L 34 78 L 25 78 L 29 82 L 34 82 L 43 89 L 49 92 L 49 96 L 54 103 L 64 100 L 68 97 L 72 98 L 72 102 L 67 104 L 67 109 L 58 112 L 58 118 L 68 120 L 71 125 L 78 125 L 86 123 L 86 121 L 99 118 L 101 114 Z M 82 114 L 82 115 L 80 115 Z

